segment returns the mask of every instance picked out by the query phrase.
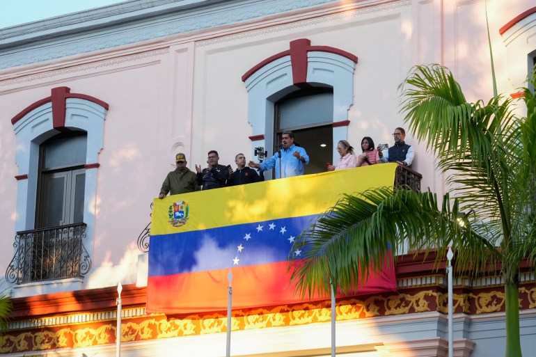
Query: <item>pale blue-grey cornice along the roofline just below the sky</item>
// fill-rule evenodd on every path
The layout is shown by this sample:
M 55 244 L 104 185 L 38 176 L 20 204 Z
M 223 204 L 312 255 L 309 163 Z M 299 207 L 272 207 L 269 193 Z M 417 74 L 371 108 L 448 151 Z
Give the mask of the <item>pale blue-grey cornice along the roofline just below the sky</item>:
M 144 2 L 152 3 L 152 1 Z M 238 24 L 260 17 L 337 1 L 235 0 L 216 4 L 211 1 L 194 9 L 178 6 L 184 3 L 180 0 L 164 2 L 168 6 L 165 11 L 159 6 L 147 6 L 134 13 L 126 11 L 116 21 L 107 22 L 107 17 L 104 17 L 100 23 L 91 26 L 83 22 L 68 24 L 68 26 L 66 24 L 66 27 L 61 30 L 36 30 L 35 33 L 26 35 L 24 41 L 15 37 L 13 32 L 17 32 L 16 28 L 0 31 L 0 69 L 50 61 L 55 58 L 110 49 L 216 26 Z M 140 3 L 142 1 L 136 2 L 136 4 Z M 175 6 L 170 6 L 170 4 L 175 4 Z M 99 16 L 104 15 L 99 13 Z M 113 20 L 114 16 L 116 15 L 111 15 L 110 19 Z M 48 21 L 53 22 L 53 19 Z M 66 21 L 72 21 L 72 19 Z M 77 34 L 72 35 L 73 33 Z

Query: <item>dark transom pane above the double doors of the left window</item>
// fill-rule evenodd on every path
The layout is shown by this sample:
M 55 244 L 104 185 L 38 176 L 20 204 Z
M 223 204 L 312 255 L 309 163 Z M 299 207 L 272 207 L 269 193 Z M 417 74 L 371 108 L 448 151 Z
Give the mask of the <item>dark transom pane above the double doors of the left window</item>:
M 45 168 L 86 164 L 86 135 L 70 136 L 45 144 Z

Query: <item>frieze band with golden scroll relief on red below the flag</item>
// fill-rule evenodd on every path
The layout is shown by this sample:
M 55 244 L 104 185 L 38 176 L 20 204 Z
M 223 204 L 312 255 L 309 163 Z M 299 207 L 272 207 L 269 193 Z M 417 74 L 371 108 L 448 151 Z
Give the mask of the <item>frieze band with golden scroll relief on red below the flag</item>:
M 536 302 L 533 296 L 536 288 L 520 289 L 520 307 L 523 317 L 535 315 Z M 454 308 L 458 321 L 471 318 L 480 320 L 497 319 L 504 316 L 505 296 L 503 292 L 480 292 L 457 294 Z M 446 294 L 434 289 L 390 296 L 369 296 L 338 299 L 336 319 L 341 324 L 354 324 L 362 327 L 423 324 L 425 321 L 445 319 Z M 471 301 L 474 301 L 472 303 Z M 471 308 L 471 306 L 475 306 Z M 463 314 L 463 315 L 462 315 Z M 466 315 L 469 314 L 469 315 Z M 184 338 L 188 336 L 212 335 L 226 331 L 226 312 L 210 312 L 188 315 L 146 315 L 145 309 L 127 308 L 122 312 L 123 342 L 143 342 L 165 338 Z M 116 342 L 116 310 L 107 309 L 86 313 L 79 310 L 68 316 L 51 315 L 39 319 L 26 319 L 10 322 L 9 331 L 0 344 L 0 353 L 43 351 L 61 348 L 91 347 Z M 331 320 L 329 301 L 299 303 L 291 306 L 272 306 L 247 310 L 233 310 L 232 331 L 251 331 L 274 327 L 313 326 Z M 358 330 L 357 329 L 354 329 Z M 288 332 L 288 330 L 287 330 Z

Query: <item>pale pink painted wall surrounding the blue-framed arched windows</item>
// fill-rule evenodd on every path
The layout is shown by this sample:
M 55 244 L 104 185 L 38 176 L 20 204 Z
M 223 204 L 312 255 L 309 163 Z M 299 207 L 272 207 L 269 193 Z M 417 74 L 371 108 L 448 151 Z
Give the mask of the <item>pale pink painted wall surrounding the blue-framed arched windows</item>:
M 191 169 L 204 165 L 212 149 L 219 150 L 222 164 L 234 165 L 237 152 L 251 158 L 242 74 L 288 49 L 291 40 L 308 38 L 314 45 L 338 47 L 359 57 L 348 113 L 347 139 L 354 146 L 363 136 L 393 142 L 394 127 L 403 125 L 397 86 L 412 65 L 447 65 L 468 100 L 493 95 L 484 1 L 413 1 L 367 11 L 352 6 L 358 4 L 0 70 L 0 227 L 6 246 L 0 251 L 0 271 L 6 271 L 13 257 L 8 247 L 15 236 L 17 167 L 10 119 L 47 97 L 51 88 L 68 86 L 110 104 L 97 169 L 96 269 L 84 287 L 114 285 L 118 278 L 136 282 L 136 239 L 150 221 L 150 203 L 173 170 L 176 152 L 187 154 Z M 508 77 L 507 49 L 498 29 L 527 8 L 527 1 L 508 6 L 488 1 L 498 85 L 506 93 L 522 83 Z M 514 55 L 515 63 L 526 61 L 526 54 Z M 407 142 L 417 144 L 411 135 Z M 423 188 L 441 192 L 443 180 L 434 170 L 433 157 L 422 144 L 416 146 L 416 155 L 414 166 L 423 173 Z

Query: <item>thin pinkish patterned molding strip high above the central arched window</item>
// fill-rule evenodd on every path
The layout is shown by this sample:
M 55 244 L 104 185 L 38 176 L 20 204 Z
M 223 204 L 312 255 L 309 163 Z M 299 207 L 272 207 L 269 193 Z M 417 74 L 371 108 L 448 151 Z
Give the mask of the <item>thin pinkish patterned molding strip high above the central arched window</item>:
M 381 11 L 404 8 L 410 5 L 411 0 L 388 0 L 386 2 L 380 3 L 379 5 L 373 4 L 368 6 L 353 3 L 351 5 L 353 8 L 349 8 L 347 6 L 339 12 L 334 13 L 333 15 L 326 15 L 325 13 L 322 13 L 320 15 L 315 15 L 315 17 L 301 19 L 296 22 L 290 22 L 289 24 L 269 26 L 262 29 L 254 29 L 250 31 L 241 31 L 235 35 L 222 35 L 210 40 L 200 40 L 196 42 L 196 47 L 207 47 L 236 40 L 248 39 L 258 35 L 270 35 L 273 33 L 279 33 L 292 29 L 301 29 L 302 27 L 307 26 L 316 26 L 317 24 L 322 24 L 326 22 L 340 22 L 343 19 L 350 19 L 353 17 L 359 17 L 361 15 L 368 15 L 370 13 L 379 13 Z

